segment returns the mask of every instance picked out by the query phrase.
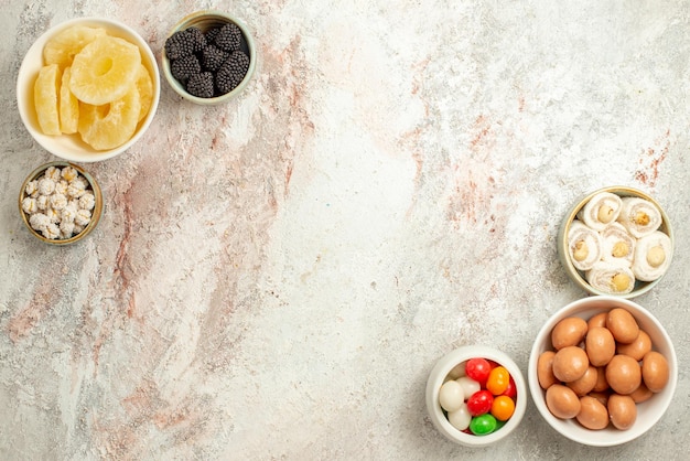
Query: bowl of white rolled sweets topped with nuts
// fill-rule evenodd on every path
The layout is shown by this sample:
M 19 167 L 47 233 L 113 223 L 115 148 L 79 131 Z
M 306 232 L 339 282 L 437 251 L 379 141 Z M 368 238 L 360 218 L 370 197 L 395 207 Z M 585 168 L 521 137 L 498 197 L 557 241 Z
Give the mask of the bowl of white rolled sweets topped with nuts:
M 558 254 L 568 276 L 589 293 L 634 298 L 651 290 L 669 269 L 673 232 L 650 195 L 604 187 L 564 216 Z

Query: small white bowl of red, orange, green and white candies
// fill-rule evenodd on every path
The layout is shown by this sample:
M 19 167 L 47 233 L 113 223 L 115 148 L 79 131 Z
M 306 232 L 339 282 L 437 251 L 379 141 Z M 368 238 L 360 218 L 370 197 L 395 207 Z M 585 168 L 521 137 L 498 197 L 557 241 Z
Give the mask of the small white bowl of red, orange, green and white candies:
M 441 357 L 427 380 L 427 410 L 435 428 L 466 447 L 485 447 L 518 427 L 527 385 L 516 363 L 486 345 L 462 346 Z

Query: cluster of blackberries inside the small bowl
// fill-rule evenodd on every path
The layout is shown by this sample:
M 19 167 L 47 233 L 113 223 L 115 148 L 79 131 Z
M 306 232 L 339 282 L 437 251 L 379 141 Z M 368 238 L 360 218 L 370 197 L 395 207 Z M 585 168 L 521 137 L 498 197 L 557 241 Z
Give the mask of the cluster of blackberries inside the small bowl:
M 249 69 L 245 39 L 235 23 L 175 32 L 165 41 L 170 72 L 193 96 L 211 98 L 231 92 Z M 245 45 L 246 46 L 246 45 Z

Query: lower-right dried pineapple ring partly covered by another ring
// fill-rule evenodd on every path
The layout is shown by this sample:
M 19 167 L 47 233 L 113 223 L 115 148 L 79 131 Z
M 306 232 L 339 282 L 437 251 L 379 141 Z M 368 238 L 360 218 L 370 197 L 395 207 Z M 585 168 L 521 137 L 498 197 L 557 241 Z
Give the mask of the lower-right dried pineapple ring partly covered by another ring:
M 79 135 L 96 150 L 115 149 L 131 139 L 137 129 L 141 101 L 136 85 L 110 104 L 79 104 Z

